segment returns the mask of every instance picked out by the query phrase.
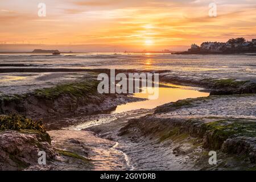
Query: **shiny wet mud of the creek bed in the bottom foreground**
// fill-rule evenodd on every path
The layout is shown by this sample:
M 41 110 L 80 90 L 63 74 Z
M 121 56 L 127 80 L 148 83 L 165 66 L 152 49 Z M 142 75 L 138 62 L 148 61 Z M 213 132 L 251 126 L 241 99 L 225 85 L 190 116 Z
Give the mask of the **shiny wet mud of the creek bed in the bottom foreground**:
M 57 150 L 75 152 L 90 160 L 92 170 L 128 170 L 125 155 L 117 148 L 117 143 L 97 137 L 90 131 L 53 130 L 49 131 L 52 146 Z M 85 169 L 82 164 L 73 163 L 73 170 Z M 63 166 L 70 170 L 69 165 Z

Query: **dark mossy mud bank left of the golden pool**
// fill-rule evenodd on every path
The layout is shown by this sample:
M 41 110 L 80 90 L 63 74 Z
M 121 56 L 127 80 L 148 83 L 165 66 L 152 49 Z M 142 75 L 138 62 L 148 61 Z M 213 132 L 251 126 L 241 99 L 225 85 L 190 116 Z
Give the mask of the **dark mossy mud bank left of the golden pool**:
M 117 105 L 139 100 L 128 97 L 127 94 L 99 94 L 97 85 L 98 81 L 88 78 L 71 84 L 36 89 L 26 94 L 2 96 L 0 113 L 42 118 L 49 125 L 63 117 L 100 113 L 113 110 Z

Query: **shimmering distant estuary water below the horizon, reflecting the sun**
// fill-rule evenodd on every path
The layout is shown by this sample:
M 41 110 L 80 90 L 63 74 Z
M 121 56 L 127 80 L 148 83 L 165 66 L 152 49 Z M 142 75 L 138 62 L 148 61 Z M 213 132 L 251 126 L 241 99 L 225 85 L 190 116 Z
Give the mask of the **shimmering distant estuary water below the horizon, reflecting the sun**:
M 177 76 L 256 80 L 256 54 L 171 55 L 88 53 L 63 55 L 0 55 L 0 68 L 73 68 L 166 70 Z M 1 73 L 0 81 L 14 79 Z M 19 79 L 22 79 L 19 77 Z

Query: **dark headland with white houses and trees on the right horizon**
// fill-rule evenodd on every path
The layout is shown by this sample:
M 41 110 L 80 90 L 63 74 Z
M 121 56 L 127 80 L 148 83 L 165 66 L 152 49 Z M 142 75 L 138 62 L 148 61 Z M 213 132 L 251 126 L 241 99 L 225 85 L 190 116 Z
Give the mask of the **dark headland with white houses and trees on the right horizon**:
M 192 44 L 187 53 L 246 53 L 256 52 L 256 39 L 232 38 L 228 42 L 204 42 L 200 46 Z

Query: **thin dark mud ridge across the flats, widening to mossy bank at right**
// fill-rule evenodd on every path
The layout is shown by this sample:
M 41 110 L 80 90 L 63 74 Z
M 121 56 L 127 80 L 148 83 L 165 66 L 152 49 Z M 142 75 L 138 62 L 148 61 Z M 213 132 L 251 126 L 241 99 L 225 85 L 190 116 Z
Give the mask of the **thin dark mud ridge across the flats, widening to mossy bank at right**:
M 69 68 L 0 68 L 1 73 L 107 73 L 110 69 L 69 69 Z M 212 94 L 244 94 L 256 93 L 256 80 L 240 80 L 239 78 L 185 78 L 171 74 L 168 70 L 116 69 L 115 73 L 159 73 L 159 80 L 173 84 L 199 86 L 212 90 Z

